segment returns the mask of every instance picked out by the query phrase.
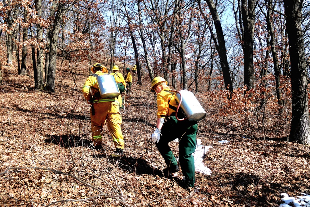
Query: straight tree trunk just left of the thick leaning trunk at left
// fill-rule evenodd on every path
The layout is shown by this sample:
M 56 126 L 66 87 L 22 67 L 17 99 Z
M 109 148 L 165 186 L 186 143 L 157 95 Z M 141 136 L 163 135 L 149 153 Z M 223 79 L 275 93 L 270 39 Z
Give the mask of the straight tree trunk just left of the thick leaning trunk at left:
M 39 18 L 42 16 L 42 5 L 41 0 L 35 0 L 36 12 Z M 42 89 L 43 85 L 43 31 L 42 26 L 37 23 L 37 42 L 39 43 L 39 47 L 37 48 L 37 83 L 34 83 L 35 89 Z

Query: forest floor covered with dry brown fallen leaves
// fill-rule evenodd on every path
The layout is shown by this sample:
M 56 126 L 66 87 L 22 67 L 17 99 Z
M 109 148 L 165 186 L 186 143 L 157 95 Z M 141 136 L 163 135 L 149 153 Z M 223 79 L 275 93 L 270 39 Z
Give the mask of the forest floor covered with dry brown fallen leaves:
M 30 75 L 2 66 L 0 206 L 279 206 L 280 193 L 309 193 L 309 146 L 288 142 L 272 117 L 264 133 L 229 130 L 213 116 L 221 103 L 204 93 L 197 94 L 207 113 L 197 139 L 212 146 L 203 160 L 212 173 L 196 172 L 190 190 L 178 184 L 181 171 L 164 178 L 164 161 L 148 142 L 157 120 L 148 76 L 126 97 L 125 155 L 110 156 L 114 145 L 106 126 L 102 151 L 92 150 L 90 107 L 81 92 L 87 66 L 74 72 L 58 65 L 56 92 L 47 93 L 33 89 Z M 177 156 L 177 143 L 170 146 Z

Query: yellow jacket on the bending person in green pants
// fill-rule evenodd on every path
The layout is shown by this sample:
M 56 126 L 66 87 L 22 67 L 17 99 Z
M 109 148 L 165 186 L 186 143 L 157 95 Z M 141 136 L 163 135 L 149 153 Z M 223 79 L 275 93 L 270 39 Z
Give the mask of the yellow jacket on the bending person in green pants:
M 157 94 L 157 118 L 166 118 L 176 111 L 175 93 L 165 88 Z

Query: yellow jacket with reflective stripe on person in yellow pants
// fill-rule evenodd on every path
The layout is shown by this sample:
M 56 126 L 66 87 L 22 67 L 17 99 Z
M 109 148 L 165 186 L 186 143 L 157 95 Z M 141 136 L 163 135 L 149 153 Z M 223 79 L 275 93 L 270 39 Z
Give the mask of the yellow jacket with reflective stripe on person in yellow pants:
M 95 74 L 103 75 L 104 73 L 98 70 Z M 85 97 L 87 103 L 101 103 L 108 101 L 117 101 L 117 98 L 92 98 L 92 94 L 99 93 L 97 78 L 90 75 L 82 88 L 83 96 Z M 117 101 L 118 102 L 118 101 Z

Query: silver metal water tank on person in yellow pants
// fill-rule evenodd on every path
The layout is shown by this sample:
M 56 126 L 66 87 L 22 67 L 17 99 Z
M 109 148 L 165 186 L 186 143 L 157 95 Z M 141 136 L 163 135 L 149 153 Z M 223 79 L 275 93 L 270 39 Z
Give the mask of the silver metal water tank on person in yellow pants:
M 113 75 L 104 74 L 97 77 L 97 84 L 101 98 L 116 98 L 120 95 Z

